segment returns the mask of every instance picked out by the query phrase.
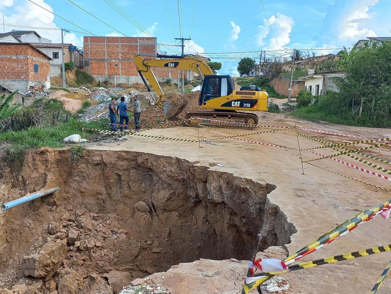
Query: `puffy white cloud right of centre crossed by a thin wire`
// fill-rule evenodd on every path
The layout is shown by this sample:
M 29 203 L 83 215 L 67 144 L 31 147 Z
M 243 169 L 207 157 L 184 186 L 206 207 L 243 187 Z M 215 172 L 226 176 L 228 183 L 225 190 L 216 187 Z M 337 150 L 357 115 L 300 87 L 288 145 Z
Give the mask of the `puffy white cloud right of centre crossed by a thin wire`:
M 269 18 L 273 33 L 271 32 L 269 22 L 265 19 L 264 24 L 258 27 L 256 42 L 258 46 L 265 46 L 265 50 L 280 50 L 288 48 L 286 45 L 291 41 L 291 32 L 294 21 L 291 17 L 282 13 L 277 13 Z

